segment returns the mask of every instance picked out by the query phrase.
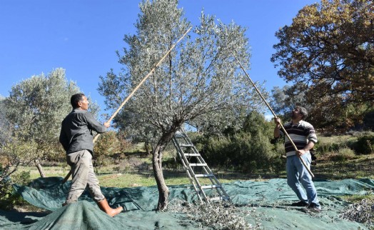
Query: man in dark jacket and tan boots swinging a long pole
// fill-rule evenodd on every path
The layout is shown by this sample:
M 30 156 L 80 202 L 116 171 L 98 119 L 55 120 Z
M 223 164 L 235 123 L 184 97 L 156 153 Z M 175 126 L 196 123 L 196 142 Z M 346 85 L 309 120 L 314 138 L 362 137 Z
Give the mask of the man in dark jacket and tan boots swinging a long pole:
M 108 122 L 99 124 L 87 111 L 89 101 L 84 94 L 71 96 L 73 111 L 66 116 L 61 125 L 60 142 L 66 151 L 66 161 L 71 166 L 73 179 L 69 194 L 64 205 L 78 201 L 79 196 L 89 187 L 92 199 L 96 201 L 101 210 L 109 216 L 119 214 L 123 208 L 120 206 L 111 209 L 108 201 L 101 193 L 98 179 L 93 171 L 93 136 L 92 131 L 99 134 L 106 132 L 110 126 Z

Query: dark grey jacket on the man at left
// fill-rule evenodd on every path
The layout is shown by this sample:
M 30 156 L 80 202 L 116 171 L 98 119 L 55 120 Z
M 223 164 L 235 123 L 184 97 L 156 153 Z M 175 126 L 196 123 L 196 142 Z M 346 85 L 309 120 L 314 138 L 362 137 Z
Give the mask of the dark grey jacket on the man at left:
M 93 152 L 92 131 L 99 134 L 106 132 L 106 127 L 99 124 L 86 110 L 73 109 L 61 124 L 60 143 L 66 154 L 80 150 Z

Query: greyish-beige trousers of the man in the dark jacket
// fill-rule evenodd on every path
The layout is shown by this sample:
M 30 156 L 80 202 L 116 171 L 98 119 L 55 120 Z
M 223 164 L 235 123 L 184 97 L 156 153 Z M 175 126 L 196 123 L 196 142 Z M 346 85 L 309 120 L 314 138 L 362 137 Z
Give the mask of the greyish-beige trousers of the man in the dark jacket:
M 66 155 L 66 161 L 73 171 L 71 188 L 66 197 L 66 204 L 78 201 L 79 196 L 84 192 L 86 186 L 94 201 L 99 202 L 105 199 L 98 186 L 98 179 L 93 171 L 92 155 L 88 150 L 81 150 Z

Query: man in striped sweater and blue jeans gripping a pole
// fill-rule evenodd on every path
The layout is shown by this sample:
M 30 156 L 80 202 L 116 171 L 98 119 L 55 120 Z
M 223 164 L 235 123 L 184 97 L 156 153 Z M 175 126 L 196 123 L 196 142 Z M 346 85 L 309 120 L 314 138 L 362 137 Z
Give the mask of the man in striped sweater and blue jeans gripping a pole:
M 312 177 L 300 161 L 300 158 L 302 158 L 305 161 L 306 166 L 310 168 L 312 159 L 309 150 L 313 148 L 315 143 L 317 143 L 317 136 L 315 135 L 313 126 L 308 122 L 303 121 L 306 116 L 308 116 L 308 111 L 301 106 L 297 106 L 292 111 L 291 121 L 283 125 L 285 131 L 298 149 L 295 151 L 293 144 L 290 142 L 288 137 L 285 136 L 287 184 L 300 200 L 293 203 L 292 206 L 305 206 L 310 211 L 319 212 L 320 204 Z M 278 138 L 279 136 L 284 135 L 284 133 L 281 130 L 281 119 L 276 118 L 275 122 L 276 128 L 274 129 L 274 137 Z M 300 185 L 303 185 L 306 194 Z

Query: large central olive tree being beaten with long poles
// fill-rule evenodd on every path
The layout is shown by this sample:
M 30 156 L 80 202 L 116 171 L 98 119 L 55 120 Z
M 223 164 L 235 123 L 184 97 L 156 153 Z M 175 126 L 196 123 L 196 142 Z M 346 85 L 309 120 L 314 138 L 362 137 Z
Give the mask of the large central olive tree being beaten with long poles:
M 126 47 L 118 51 L 123 71 L 101 77 L 101 94 L 109 108 L 116 108 L 158 59 L 191 26 L 176 0 L 141 1 L 136 35 L 124 36 Z M 153 138 L 153 173 L 159 191 L 158 210 L 168 204 L 163 178 L 163 150 L 184 123 L 228 126 L 238 122 L 242 111 L 261 103 L 240 70 L 233 54 L 248 67 L 246 29 L 223 24 L 201 13 L 200 24 L 179 43 L 156 71 L 136 91 L 117 117 L 126 119 L 130 135 L 144 132 Z

